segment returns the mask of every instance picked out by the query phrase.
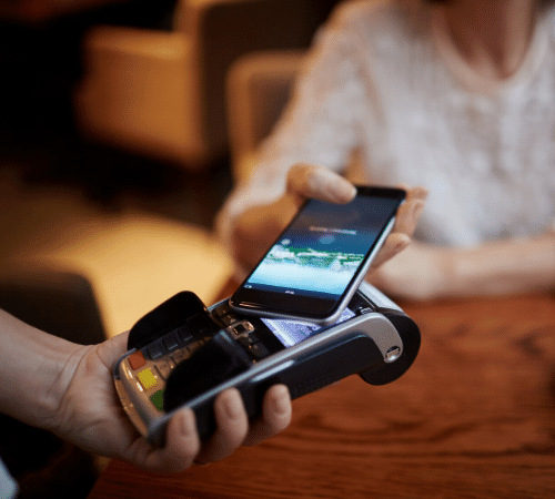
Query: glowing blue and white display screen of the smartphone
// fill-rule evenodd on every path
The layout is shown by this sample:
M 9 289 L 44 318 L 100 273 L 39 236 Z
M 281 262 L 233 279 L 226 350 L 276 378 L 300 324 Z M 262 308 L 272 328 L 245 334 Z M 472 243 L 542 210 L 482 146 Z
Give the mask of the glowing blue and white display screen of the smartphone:
M 397 205 L 397 200 L 377 196 L 336 205 L 311 200 L 244 287 L 336 299 Z

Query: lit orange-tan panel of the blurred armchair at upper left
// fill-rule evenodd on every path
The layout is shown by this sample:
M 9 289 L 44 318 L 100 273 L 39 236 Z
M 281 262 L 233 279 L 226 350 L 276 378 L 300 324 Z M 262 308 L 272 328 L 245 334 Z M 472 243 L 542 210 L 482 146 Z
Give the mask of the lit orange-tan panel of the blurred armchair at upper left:
M 84 41 L 87 75 L 75 93 L 82 134 L 168 161 L 202 164 L 199 88 L 182 33 L 99 27 Z

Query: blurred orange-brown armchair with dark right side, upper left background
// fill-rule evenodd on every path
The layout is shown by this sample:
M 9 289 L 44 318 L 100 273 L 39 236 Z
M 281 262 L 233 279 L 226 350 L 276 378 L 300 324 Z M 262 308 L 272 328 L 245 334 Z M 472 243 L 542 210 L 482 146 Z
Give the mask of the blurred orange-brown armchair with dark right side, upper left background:
M 75 92 L 94 141 L 200 170 L 229 154 L 225 77 L 241 55 L 306 48 L 337 0 L 181 0 L 172 31 L 97 27 Z

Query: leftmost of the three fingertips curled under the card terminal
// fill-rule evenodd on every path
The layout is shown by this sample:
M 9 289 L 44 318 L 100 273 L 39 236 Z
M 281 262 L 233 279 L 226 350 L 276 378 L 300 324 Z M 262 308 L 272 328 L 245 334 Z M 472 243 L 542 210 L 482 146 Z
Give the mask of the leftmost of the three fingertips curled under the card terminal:
M 165 446 L 151 451 L 144 462 L 138 465 L 161 473 L 183 471 L 193 465 L 200 447 L 194 413 L 192 409 L 182 409 L 168 424 Z

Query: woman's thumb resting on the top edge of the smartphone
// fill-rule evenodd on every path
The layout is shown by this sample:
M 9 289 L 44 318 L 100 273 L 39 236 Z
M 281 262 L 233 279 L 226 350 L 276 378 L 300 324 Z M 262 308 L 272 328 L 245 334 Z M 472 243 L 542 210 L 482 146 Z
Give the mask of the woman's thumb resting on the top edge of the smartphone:
M 287 193 L 300 205 L 307 197 L 330 203 L 349 203 L 355 186 L 345 177 L 322 166 L 295 164 L 287 173 Z

